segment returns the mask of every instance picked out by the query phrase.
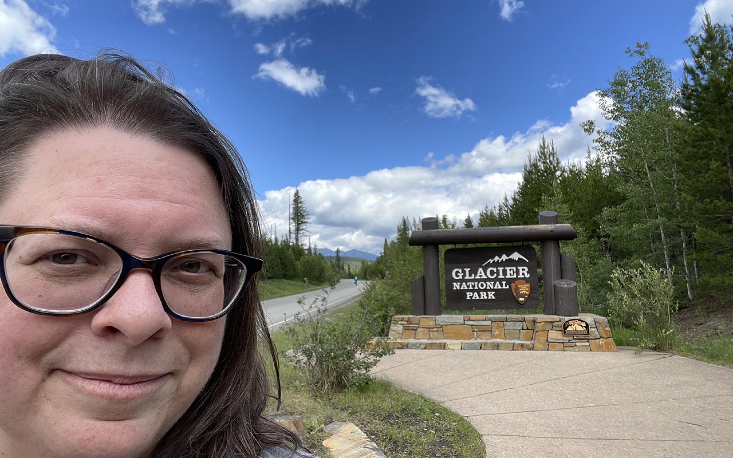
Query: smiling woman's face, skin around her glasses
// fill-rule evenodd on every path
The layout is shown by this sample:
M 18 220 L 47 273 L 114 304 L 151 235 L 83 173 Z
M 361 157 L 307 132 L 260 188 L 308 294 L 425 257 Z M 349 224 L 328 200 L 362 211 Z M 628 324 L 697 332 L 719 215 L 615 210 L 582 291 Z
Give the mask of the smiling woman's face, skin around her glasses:
M 0 224 L 94 228 L 143 257 L 195 240 L 231 248 L 216 177 L 191 152 L 92 128 L 29 153 Z M 150 270 L 75 317 L 31 314 L 0 289 L 0 456 L 150 455 L 210 377 L 224 322 L 169 317 Z

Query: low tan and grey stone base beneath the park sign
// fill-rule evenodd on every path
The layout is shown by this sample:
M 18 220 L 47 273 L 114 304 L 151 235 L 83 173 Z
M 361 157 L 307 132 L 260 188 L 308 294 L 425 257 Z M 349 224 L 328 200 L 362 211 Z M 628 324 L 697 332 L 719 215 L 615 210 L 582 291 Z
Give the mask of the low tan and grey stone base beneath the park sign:
M 589 336 L 565 335 L 562 326 L 572 319 L 588 323 Z M 397 315 L 388 344 L 413 350 L 616 351 L 608 318 L 594 314 Z

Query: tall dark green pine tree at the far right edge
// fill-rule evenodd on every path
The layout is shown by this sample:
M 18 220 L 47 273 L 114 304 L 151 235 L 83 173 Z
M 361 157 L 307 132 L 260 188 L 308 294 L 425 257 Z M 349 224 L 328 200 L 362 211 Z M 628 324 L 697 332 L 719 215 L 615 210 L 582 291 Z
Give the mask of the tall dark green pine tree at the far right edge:
M 694 257 L 704 289 L 733 290 L 733 42 L 705 15 L 690 37 L 682 81 L 683 194 L 695 227 Z

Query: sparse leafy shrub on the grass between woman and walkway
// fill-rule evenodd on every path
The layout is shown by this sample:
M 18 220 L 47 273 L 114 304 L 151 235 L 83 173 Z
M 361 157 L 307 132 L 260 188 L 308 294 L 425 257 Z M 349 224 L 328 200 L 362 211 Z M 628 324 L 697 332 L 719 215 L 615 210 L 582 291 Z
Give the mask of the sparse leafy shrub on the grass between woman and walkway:
M 301 370 L 312 391 L 353 389 L 369 382 L 369 371 L 380 358 L 394 352 L 377 336 L 377 325 L 364 310 L 349 317 L 327 317 L 328 291 L 306 304 L 298 299 L 303 312 L 284 326 L 294 347 L 286 355 Z

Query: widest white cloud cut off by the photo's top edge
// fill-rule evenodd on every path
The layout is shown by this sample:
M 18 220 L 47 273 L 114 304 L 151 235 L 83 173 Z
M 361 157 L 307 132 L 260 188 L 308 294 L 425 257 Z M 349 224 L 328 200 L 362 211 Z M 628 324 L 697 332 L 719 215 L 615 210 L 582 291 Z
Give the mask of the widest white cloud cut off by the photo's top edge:
M 359 10 L 367 0 L 229 0 L 232 12 L 251 21 L 284 19 L 314 7 L 347 7 Z

